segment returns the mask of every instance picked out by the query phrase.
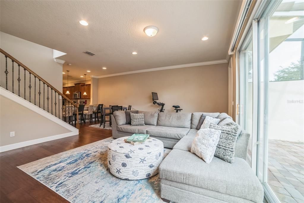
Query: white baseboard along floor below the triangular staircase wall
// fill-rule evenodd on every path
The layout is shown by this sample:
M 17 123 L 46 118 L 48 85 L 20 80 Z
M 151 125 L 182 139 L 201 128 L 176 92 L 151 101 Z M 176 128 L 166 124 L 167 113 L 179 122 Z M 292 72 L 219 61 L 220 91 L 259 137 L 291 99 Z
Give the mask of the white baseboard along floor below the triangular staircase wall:
M 39 144 L 39 143 L 42 143 L 42 142 L 57 140 L 57 139 L 64 138 L 64 137 L 70 137 L 70 136 L 73 136 L 73 135 L 78 135 L 78 132 L 64 133 L 64 134 L 53 135 L 53 136 L 49 136 L 49 137 L 38 138 L 38 139 L 35 139 L 35 140 L 18 142 L 18 143 L 15 143 L 15 144 L 8 144 L 8 145 L 0 147 L 0 152 L 9 151 L 9 150 L 17 149 L 17 148 L 21 148 L 21 147 L 26 147 L 26 146 L 30 146 L 30 145 L 33 145 L 33 144 Z

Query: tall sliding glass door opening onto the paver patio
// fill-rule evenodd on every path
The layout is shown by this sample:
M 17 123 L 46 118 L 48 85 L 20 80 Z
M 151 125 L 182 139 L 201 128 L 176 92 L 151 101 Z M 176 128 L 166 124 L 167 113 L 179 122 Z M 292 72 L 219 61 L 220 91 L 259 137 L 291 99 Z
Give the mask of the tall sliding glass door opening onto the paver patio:
M 304 202 L 304 2 L 262 10 L 239 51 L 239 123 L 268 200 Z

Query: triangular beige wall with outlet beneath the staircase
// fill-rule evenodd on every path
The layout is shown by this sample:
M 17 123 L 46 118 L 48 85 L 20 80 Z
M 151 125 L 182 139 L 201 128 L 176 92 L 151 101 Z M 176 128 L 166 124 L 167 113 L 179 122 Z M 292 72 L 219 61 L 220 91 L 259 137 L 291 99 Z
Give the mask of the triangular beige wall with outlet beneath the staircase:
M 15 137 L 10 137 L 13 131 Z M 69 132 L 36 112 L 0 96 L 0 146 Z

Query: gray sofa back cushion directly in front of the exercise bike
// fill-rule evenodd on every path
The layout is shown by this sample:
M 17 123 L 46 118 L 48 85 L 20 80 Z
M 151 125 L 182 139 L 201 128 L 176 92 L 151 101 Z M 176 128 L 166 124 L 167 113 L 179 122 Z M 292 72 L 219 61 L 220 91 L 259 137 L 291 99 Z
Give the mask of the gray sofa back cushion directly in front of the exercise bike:
M 158 114 L 157 125 L 177 128 L 190 128 L 191 113 L 160 112 Z

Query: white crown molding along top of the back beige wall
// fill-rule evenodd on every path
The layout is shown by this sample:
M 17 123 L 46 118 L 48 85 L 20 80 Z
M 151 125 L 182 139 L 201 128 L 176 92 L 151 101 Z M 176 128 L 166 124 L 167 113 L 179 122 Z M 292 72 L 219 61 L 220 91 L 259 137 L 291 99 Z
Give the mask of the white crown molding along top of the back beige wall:
M 186 67 L 194 67 L 194 66 L 206 66 L 206 65 L 219 64 L 219 63 L 227 63 L 227 60 L 223 59 L 223 60 L 217 60 L 217 61 L 188 63 L 188 64 L 175 65 L 175 66 L 165 66 L 165 67 L 159 67 L 159 68 L 134 70 L 134 71 L 128 71 L 128 72 L 123 72 L 123 73 L 114 73 L 114 74 L 109 74 L 109 75 L 101 75 L 101 76 L 93 76 L 92 75 L 91 77 L 93 77 L 93 78 L 113 77 L 113 76 L 119 76 L 119 75 L 129 75 L 129 74 L 134 74 L 134 73 L 144 73 L 144 72 L 151 72 L 151 71 L 158 71 L 158 70 L 168 70 L 168 69 L 186 68 Z

